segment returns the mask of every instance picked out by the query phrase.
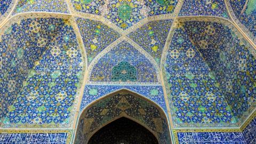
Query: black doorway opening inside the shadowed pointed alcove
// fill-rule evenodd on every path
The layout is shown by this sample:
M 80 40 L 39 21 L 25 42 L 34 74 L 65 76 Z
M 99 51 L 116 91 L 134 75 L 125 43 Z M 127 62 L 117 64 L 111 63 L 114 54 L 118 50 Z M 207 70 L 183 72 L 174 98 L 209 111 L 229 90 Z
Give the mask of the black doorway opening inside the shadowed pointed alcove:
M 92 135 L 89 144 L 158 144 L 153 133 L 131 119 L 122 117 Z

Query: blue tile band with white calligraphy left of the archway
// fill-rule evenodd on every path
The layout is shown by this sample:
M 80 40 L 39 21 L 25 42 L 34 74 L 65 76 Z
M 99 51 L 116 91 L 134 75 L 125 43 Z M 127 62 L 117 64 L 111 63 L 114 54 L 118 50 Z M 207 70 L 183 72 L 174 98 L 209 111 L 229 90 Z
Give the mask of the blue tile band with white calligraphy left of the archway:
M 0 143 L 66 144 L 68 133 L 0 133 Z

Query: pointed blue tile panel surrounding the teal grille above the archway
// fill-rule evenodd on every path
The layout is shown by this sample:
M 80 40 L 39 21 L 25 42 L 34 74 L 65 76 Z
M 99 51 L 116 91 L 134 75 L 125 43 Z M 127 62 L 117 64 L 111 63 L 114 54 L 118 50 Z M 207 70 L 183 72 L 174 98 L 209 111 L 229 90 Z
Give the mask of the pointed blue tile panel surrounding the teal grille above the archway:
M 87 77 L 87 82 L 107 82 L 118 84 L 159 83 L 158 67 L 154 60 L 150 59 L 151 56 L 147 55 L 145 51 L 139 49 L 138 46 L 132 45 L 129 42 L 129 39 L 126 39 L 125 41 L 124 39 L 123 37 L 117 39 L 117 41 L 110 44 L 109 47 L 107 47 L 105 50 L 99 53 L 97 57 L 95 57 L 88 68 L 89 75 Z M 129 62 L 131 66 L 134 66 L 137 69 L 138 81 L 114 82 L 111 80 L 111 68 L 117 66 L 121 61 Z M 146 75 L 143 76 L 142 71 L 143 73 L 146 73 Z M 104 76 L 102 74 L 104 74 Z

